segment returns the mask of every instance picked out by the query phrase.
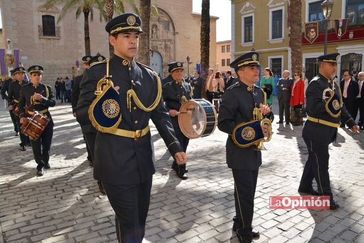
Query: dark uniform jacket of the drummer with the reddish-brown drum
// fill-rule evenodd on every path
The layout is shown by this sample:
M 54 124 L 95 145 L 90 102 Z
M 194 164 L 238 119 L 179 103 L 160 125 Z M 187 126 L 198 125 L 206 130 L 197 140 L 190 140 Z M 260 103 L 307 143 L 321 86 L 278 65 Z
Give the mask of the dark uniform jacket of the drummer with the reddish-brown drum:
M 34 104 L 30 106 L 33 102 L 33 94 L 40 93 L 43 91 L 42 96 L 43 99 L 40 101 L 34 101 Z M 52 87 L 49 85 L 44 85 L 39 83 L 38 86 L 33 85 L 32 83 L 25 84 L 20 89 L 20 98 L 19 98 L 19 111 L 20 117 L 30 117 L 32 112 L 34 111 L 44 111 L 48 110 L 49 107 L 54 107 L 56 105 L 56 101 L 54 100 Z M 29 107 L 28 113 L 25 114 L 25 106 Z M 54 126 L 53 119 L 51 113 L 41 112 L 43 115 L 46 115 L 50 118 L 50 122 L 48 126 Z

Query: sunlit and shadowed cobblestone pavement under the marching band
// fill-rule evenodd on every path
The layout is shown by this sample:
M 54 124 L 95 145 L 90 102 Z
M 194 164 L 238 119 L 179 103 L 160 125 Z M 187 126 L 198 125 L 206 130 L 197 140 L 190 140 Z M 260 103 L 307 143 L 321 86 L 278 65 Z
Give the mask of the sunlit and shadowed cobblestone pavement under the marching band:
M 70 106 L 50 109 L 56 124 L 52 168 L 42 177 L 35 175 L 31 149 L 18 151 L 20 139 L 2 102 L 0 106 L 0 242 L 117 242 L 113 210 L 85 161 L 81 130 Z M 261 236 L 255 242 L 364 242 L 364 132 L 340 128 L 337 143 L 330 145 L 339 210 L 268 208 L 269 196 L 299 196 L 307 158 L 301 130 L 274 122 L 273 138 L 265 143 L 253 220 Z M 171 170 L 172 160 L 153 125 L 151 131 L 156 173 L 143 242 L 237 243 L 232 231 L 234 181 L 225 164 L 227 135 L 216 129 L 190 141 L 189 179 L 182 181 Z

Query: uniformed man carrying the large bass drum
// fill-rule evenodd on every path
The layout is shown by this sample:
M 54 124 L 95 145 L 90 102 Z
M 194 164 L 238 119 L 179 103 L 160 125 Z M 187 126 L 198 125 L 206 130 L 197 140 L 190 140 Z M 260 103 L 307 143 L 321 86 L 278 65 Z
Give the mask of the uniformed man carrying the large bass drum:
M 190 141 L 188 137 L 186 137 L 179 125 L 178 125 L 178 114 L 181 105 L 192 99 L 193 89 L 189 83 L 183 81 L 183 64 L 181 62 L 172 62 L 168 64 L 168 72 L 170 78 L 166 78 L 167 80 L 163 83 L 163 100 L 165 103 L 165 107 L 169 112 L 169 115 L 172 120 L 174 132 L 178 138 L 179 143 L 181 144 L 184 152 L 187 151 L 187 145 Z M 175 170 L 177 176 L 183 180 L 188 178 L 186 169 L 186 164 L 178 165 L 175 160 L 172 163 L 172 169 Z

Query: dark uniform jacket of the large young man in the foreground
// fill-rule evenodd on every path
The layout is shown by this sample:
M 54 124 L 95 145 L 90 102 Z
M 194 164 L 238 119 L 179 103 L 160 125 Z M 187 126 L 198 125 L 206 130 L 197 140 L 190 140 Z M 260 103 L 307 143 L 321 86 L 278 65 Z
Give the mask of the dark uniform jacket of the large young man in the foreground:
M 145 107 L 149 107 L 157 96 L 157 75 L 149 67 L 140 63 L 128 62 L 114 54 L 110 60 L 109 74 L 114 86 L 120 90 L 120 113 L 122 121 L 118 128 L 135 131 L 148 126 L 152 119 L 172 156 L 182 152 L 164 105 L 160 99 L 152 112 L 145 112 L 131 99 L 131 111 L 127 108 L 126 92 L 132 88 Z M 106 75 L 106 62 L 94 64 L 83 73 L 80 96 L 77 104 L 77 121 L 89 124 L 88 107 L 96 98 L 98 81 Z M 151 133 L 139 140 L 98 132 L 95 141 L 94 177 L 114 185 L 143 183 L 155 172 L 153 142 Z

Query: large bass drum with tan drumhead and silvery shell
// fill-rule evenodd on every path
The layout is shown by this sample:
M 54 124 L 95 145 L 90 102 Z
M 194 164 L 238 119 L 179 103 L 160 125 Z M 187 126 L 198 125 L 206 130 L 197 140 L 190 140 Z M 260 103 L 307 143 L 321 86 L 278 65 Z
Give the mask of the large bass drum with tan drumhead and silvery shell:
M 215 106 L 207 100 L 190 100 L 179 109 L 178 125 L 188 138 L 207 136 L 217 125 Z

